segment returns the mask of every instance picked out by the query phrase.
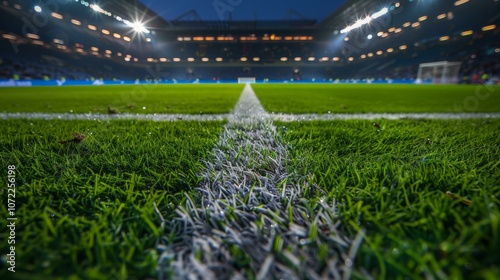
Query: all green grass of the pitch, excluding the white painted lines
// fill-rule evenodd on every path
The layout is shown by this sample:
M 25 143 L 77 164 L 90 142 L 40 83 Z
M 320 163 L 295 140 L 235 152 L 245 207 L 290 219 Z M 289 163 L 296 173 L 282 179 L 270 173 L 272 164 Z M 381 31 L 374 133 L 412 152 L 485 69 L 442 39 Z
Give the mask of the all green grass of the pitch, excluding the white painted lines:
M 134 92 L 141 87 L 5 88 L 0 111 L 106 113 L 110 104 L 129 113 L 227 113 L 242 90 L 150 87 L 140 100 Z M 500 110 L 498 87 L 253 87 L 274 112 Z M 366 230 L 354 278 L 494 279 L 500 274 L 500 121 L 378 123 L 279 123 L 291 147 L 288 170 L 310 175 L 310 183 L 327 191 L 328 203 L 335 199 L 344 232 L 354 237 Z M 0 128 L 3 172 L 12 164 L 17 172 L 16 275 L 143 279 L 155 277 L 153 248 L 162 235 L 153 202 L 166 219 L 173 217 L 183 192 L 198 186 L 222 123 L 7 120 Z M 57 142 L 75 131 L 85 134 L 84 142 Z M 472 205 L 447 191 L 469 197 Z M 4 217 L 6 206 L 0 206 Z M 0 237 L 6 240 L 7 233 Z M 2 252 L 7 247 L 0 245 Z M 236 259 L 234 265 L 242 264 Z M 4 273 L 6 267 L 1 279 Z

